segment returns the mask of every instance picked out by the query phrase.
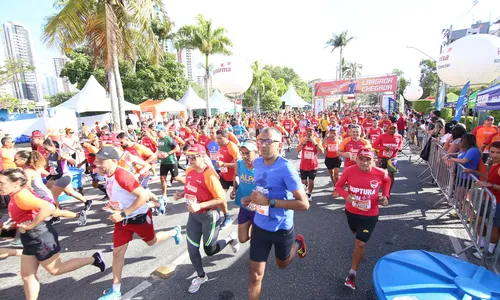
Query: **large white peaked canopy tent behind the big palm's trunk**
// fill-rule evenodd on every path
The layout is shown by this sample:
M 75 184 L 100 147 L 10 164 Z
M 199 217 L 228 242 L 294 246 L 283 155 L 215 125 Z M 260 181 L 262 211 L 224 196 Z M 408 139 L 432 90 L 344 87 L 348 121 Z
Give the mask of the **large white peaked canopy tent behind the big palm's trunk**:
M 70 108 L 77 113 L 111 111 L 111 101 L 106 95 L 106 90 L 91 75 L 78 94 L 56 107 Z M 125 110 L 140 111 L 140 108 L 125 101 Z

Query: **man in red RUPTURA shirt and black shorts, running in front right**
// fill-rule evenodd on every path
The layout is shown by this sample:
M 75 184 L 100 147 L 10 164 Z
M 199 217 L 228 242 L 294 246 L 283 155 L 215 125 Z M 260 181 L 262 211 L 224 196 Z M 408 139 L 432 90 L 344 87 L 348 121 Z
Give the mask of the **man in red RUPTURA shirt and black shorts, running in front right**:
M 362 149 L 358 152 L 356 165 L 344 169 L 335 189 L 346 200 L 347 223 L 356 234 L 352 265 L 345 285 L 356 289 L 356 272 L 365 255 L 365 245 L 375 229 L 379 215 L 379 202 L 389 204 L 391 179 L 387 171 L 375 167 L 373 151 Z M 344 189 L 347 184 L 347 191 Z M 382 196 L 379 196 L 382 187 Z

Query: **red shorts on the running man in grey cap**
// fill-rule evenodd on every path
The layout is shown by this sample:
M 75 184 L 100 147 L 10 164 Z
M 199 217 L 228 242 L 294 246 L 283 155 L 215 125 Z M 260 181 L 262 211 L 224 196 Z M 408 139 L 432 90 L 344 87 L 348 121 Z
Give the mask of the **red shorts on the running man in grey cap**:
M 148 211 L 148 217 L 143 224 L 126 224 L 123 222 L 115 223 L 115 230 L 113 232 L 113 246 L 118 248 L 128 244 L 134 237 L 134 233 L 144 242 L 150 242 L 155 238 L 155 228 L 153 226 L 153 215 L 151 210 Z M 148 222 L 149 221 L 149 222 Z

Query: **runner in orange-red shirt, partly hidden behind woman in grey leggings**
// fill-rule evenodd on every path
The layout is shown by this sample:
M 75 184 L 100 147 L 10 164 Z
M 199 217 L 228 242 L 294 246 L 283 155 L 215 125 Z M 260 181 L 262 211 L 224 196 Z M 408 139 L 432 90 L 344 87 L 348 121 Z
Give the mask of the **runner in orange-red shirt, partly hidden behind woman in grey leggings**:
M 239 151 L 238 146 L 228 140 L 229 133 L 227 129 L 219 129 L 216 134 L 219 152 L 217 153 L 215 165 L 220 168 L 220 183 L 224 191 L 227 192 L 233 186 L 234 168 L 236 160 L 239 158 Z M 224 221 L 221 224 L 221 228 L 225 228 L 233 223 L 233 219 L 229 216 L 226 201 L 222 203 L 222 212 L 224 213 Z

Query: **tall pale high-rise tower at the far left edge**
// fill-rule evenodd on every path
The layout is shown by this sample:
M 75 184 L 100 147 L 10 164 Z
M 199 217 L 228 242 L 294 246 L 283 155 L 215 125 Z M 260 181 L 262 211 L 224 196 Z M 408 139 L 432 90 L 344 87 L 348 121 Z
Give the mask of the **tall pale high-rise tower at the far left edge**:
M 19 24 L 8 22 L 3 24 L 2 47 L 5 59 L 22 61 L 24 66 L 35 66 L 33 48 L 29 31 Z M 42 100 L 42 89 L 36 72 L 26 71 L 17 74 L 11 85 L 12 96 L 22 100 Z

